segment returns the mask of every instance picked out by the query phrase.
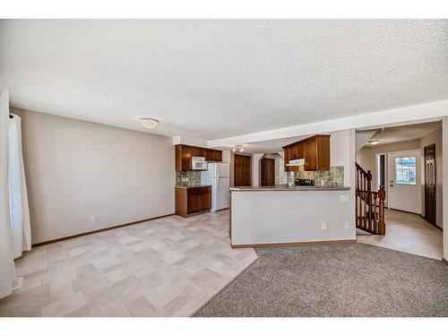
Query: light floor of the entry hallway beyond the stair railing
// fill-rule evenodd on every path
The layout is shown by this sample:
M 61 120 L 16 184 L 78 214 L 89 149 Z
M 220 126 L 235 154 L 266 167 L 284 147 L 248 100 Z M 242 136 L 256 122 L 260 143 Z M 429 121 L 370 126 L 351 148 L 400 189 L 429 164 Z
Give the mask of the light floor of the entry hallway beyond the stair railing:
M 435 228 L 419 215 L 403 211 L 386 209 L 384 221 L 386 223 L 384 236 L 366 234 L 358 229 L 358 242 L 442 260 L 444 255 L 442 230 Z

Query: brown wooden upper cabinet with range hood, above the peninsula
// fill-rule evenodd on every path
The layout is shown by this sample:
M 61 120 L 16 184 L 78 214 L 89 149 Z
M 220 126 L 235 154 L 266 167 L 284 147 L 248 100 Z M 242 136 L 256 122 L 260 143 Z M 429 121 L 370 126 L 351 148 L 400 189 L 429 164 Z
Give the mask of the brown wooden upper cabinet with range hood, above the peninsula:
M 305 170 L 330 170 L 330 135 L 314 135 L 283 147 L 285 171 L 297 171 L 287 166 L 291 159 L 305 159 Z

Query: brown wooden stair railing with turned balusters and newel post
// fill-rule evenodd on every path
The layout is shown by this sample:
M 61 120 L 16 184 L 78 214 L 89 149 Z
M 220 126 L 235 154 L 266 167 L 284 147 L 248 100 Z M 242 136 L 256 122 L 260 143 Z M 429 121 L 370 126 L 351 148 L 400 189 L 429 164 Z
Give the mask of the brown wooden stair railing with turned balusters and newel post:
M 356 163 L 356 225 L 357 228 L 373 235 L 385 235 L 384 200 L 386 192 L 383 185 L 377 192 L 372 191 L 372 174 Z

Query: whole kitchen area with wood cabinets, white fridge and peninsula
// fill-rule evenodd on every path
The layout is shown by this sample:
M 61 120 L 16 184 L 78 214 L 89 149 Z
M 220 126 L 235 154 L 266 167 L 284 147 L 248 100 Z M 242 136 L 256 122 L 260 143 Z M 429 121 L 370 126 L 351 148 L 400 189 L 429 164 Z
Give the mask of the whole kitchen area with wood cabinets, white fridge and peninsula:
M 176 213 L 188 217 L 230 208 L 233 247 L 354 241 L 352 136 L 342 131 L 285 139 L 279 172 L 284 178 L 277 180 L 286 183 L 271 186 L 230 185 L 229 151 L 179 144 Z M 258 172 L 261 158 L 251 158 Z

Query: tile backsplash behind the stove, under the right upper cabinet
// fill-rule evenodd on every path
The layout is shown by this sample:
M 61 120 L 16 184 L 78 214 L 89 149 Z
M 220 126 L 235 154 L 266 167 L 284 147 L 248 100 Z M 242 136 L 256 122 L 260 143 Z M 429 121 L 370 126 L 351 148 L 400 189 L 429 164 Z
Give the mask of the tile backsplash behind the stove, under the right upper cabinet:
M 294 183 L 295 178 L 313 179 L 315 185 L 342 186 L 344 185 L 344 166 L 330 167 L 330 170 L 305 171 L 298 167 L 298 171 L 287 172 L 287 183 Z

